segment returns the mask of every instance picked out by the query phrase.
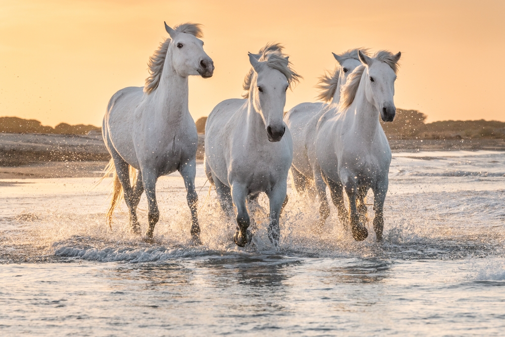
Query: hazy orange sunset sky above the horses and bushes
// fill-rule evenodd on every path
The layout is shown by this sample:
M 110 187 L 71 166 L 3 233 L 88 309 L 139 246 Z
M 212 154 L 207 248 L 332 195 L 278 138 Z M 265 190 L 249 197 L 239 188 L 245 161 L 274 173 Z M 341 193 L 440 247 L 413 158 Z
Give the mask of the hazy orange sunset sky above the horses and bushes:
M 276 41 L 304 76 L 286 110 L 315 101 L 317 77 L 336 64 L 331 52 L 365 46 L 401 51 L 396 107 L 430 122 L 505 121 L 502 0 L 0 0 L 0 116 L 100 125 L 114 92 L 143 85 L 168 36 L 163 21 L 205 26 L 216 70 L 189 81 L 195 119 L 240 97 L 247 52 Z

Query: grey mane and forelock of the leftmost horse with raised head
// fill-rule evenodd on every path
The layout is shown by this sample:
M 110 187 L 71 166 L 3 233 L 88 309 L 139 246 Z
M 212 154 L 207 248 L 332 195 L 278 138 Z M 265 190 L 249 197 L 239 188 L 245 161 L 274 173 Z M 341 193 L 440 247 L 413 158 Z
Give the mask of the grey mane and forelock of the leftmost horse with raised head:
M 204 37 L 204 33 L 201 31 L 201 25 L 198 23 L 182 23 L 174 28 L 175 31 L 181 33 L 188 33 L 197 38 Z M 170 38 L 160 43 L 160 47 L 149 57 L 149 62 L 147 63 L 149 77 L 145 79 L 144 92 L 151 93 L 160 84 L 161 74 L 163 73 L 163 65 L 165 64 L 165 59 L 167 58 L 168 47 L 170 45 Z

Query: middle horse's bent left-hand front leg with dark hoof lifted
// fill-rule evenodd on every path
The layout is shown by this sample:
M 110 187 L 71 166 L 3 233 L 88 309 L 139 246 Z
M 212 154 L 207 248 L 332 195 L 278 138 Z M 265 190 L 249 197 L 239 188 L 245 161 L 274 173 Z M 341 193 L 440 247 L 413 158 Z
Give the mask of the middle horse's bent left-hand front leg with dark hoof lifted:
M 233 240 L 238 247 L 244 247 L 251 242 L 251 233 L 247 229 L 250 225 L 249 214 L 245 206 L 247 198 L 247 187 L 244 184 L 231 184 L 231 198 L 237 208 L 237 231 L 233 235 Z

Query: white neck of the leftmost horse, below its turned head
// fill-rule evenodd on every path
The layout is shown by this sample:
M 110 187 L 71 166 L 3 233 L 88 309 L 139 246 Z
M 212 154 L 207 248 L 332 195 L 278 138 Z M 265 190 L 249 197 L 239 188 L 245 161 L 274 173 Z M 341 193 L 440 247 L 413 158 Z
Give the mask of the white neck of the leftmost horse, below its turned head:
M 188 78 L 177 74 L 172 65 L 172 56 L 169 51 L 163 66 L 160 84 L 153 95 L 153 100 L 156 101 L 154 113 L 170 124 L 181 120 L 185 114 L 189 114 L 188 91 Z

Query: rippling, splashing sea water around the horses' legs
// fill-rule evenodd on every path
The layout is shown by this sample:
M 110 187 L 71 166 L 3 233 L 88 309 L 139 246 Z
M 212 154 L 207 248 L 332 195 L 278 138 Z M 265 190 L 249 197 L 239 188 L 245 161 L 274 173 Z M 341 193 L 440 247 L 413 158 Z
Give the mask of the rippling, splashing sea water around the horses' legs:
M 389 178 L 382 244 L 334 207 L 315 231 L 316 202 L 289 189 L 279 251 L 262 209 L 235 246 L 201 165 L 197 247 L 177 173 L 158 182 L 155 243 L 124 206 L 106 226 L 110 179 L 0 180 L 0 335 L 503 335 L 505 153 L 396 153 Z

